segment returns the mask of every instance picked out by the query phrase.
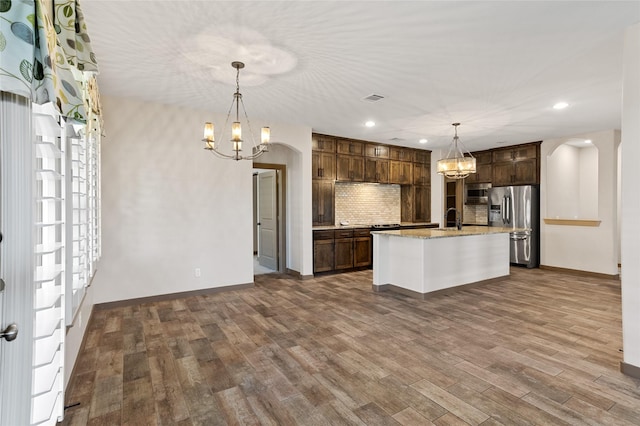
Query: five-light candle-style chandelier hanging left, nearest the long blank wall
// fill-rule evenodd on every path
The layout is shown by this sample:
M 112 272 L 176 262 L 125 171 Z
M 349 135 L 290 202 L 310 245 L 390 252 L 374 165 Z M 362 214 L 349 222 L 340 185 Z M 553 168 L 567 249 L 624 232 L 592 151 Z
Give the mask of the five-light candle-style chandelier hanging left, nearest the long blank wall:
M 236 69 L 236 92 L 233 94 L 233 101 L 231 102 L 231 107 L 229 108 L 229 112 L 227 113 L 227 120 L 224 123 L 224 131 L 227 129 L 227 125 L 229 124 L 229 118 L 231 117 L 231 111 L 233 111 L 235 106 L 236 119 L 231 124 L 231 154 L 225 154 L 221 152 L 216 146 L 215 135 L 213 123 L 204 123 L 204 149 L 211 151 L 213 154 L 217 155 L 220 158 L 226 158 L 230 160 L 253 160 L 254 158 L 259 157 L 263 153 L 269 151 L 269 139 L 271 137 L 270 129 L 268 127 L 263 127 L 260 132 L 260 144 L 256 144 L 253 137 L 253 131 L 251 130 L 251 124 L 249 123 L 249 117 L 247 116 L 247 111 L 244 108 L 244 102 L 242 101 L 242 94 L 240 93 L 240 70 L 244 68 L 244 63 L 239 61 L 231 62 L 231 66 Z M 240 105 L 242 105 L 242 111 L 244 112 L 244 117 L 247 122 L 247 127 L 249 128 L 249 134 L 251 135 L 251 154 L 242 155 L 242 127 L 240 125 Z

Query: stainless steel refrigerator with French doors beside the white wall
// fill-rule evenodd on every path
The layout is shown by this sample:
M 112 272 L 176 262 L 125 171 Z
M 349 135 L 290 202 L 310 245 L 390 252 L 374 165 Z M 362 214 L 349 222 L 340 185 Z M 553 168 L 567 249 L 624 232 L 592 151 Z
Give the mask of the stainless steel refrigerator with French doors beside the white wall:
M 540 203 L 535 185 L 499 186 L 489 189 L 489 226 L 513 228 L 511 263 L 527 268 L 540 266 Z M 515 229 L 524 229 L 515 231 Z

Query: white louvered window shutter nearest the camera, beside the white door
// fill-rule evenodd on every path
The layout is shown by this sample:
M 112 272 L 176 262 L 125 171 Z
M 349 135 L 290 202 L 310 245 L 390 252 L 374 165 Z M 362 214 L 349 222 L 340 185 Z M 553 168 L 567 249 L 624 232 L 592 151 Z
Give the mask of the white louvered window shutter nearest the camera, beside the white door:
M 31 424 L 64 414 L 65 146 L 60 118 L 33 106 L 35 128 L 35 300 Z

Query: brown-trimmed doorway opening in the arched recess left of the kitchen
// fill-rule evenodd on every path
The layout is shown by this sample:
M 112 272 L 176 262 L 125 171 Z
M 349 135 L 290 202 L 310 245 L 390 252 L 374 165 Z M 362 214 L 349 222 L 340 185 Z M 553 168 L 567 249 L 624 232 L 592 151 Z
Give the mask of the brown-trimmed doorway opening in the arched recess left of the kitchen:
M 253 164 L 253 274 L 286 271 L 286 166 Z

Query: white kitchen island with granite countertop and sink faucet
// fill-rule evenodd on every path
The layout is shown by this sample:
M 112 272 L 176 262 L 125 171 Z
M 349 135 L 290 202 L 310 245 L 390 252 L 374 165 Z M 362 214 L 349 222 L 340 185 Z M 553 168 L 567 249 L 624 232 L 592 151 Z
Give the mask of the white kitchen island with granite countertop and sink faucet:
M 425 298 L 509 275 L 513 228 L 374 231 L 373 289 Z

